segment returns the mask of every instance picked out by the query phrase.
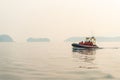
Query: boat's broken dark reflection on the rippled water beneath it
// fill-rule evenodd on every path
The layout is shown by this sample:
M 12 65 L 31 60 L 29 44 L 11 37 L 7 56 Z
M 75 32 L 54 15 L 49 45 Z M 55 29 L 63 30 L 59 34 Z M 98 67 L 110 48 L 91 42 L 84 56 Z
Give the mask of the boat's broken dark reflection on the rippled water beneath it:
M 95 60 L 95 49 L 85 49 L 85 50 L 74 50 L 73 58 L 75 61 L 79 62 L 79 68 L 93 69 L 97 68 L 94 62 Z

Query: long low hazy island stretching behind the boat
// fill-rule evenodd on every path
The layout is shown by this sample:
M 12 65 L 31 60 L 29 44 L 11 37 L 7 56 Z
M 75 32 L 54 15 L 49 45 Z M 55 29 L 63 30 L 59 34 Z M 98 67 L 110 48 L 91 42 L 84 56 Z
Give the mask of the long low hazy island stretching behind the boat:
M 120 42 L 120 36 L 118 37 L 95 37 L 97 42 Z M 66 39 L 66 42 L 79 42 L 85 40 L 85 37 L 71 37 Z

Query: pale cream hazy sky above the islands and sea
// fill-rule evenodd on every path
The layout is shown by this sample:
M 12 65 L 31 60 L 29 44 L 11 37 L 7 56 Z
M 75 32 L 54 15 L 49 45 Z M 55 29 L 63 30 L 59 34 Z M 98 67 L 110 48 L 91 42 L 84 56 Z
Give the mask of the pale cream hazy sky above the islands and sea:
M 120 0 L 0 0 L 0 34 L 16 41 L 120 36 Z

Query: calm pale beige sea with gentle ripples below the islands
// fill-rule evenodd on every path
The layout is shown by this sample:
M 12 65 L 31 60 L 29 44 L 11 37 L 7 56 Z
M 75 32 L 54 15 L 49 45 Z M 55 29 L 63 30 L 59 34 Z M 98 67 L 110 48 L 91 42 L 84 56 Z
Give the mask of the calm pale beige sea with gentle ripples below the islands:
M 0 43 L 0 80 L 120 80 L 120 43 Z

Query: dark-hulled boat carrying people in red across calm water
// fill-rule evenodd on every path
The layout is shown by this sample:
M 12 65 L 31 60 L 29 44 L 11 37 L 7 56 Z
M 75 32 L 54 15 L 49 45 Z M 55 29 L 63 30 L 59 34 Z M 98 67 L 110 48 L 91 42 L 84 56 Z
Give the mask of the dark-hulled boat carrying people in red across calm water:
M 73 49 L 96 49 L 99 48 L 96 45 L 95 37 L 86 37 L 86 40 L 79 43 L 72 43 Z

